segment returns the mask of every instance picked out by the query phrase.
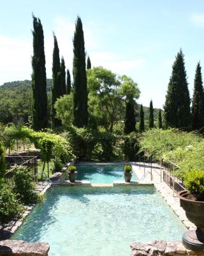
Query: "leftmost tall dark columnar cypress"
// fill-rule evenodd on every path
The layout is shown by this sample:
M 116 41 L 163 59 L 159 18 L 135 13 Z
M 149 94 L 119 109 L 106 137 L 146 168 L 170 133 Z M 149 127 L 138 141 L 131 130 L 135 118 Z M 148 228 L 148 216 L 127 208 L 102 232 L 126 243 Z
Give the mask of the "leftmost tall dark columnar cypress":
M 32 56 L 32 125 L 38 131 L 47 128 L 47 81 L 43 26 L 33 15 L 33 56 Z

